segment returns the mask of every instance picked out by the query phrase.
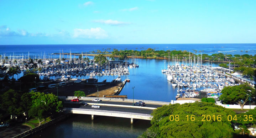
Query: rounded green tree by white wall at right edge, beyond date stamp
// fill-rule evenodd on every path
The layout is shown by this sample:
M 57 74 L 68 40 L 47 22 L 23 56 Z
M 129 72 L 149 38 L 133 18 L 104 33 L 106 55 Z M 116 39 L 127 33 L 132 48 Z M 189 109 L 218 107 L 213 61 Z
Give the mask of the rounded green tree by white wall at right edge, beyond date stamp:
M 242 110 L 249 96 L 256 96 L 255 90 L 252 90 L 247 84 L 224 87 L 221 91 L 220 100 L 223 100 L 225 104 L 238 104 Z

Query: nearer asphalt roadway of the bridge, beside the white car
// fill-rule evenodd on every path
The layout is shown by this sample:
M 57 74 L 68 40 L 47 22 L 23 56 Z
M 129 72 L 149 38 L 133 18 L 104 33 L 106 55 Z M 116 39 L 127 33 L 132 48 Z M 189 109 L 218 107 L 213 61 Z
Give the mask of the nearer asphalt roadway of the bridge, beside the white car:
M 95 103 L 96 104 L 96 103 Z M 95 109 L 95 110 L 108 110 L 108 111 L 119 111 L 119 112 L 132 112 L 132 113 L 143 113 L 150 115 L 153 110 L 143 108 L 129 108 L 129 107 L 116 107 L 116 106 L 100 106 L 100 108 L 92 108 L 92 105 L 80 105 L 79 102 L 71 103 L 64 102 L 64 107 L 67 108 L 84 108 L 84 109 Z

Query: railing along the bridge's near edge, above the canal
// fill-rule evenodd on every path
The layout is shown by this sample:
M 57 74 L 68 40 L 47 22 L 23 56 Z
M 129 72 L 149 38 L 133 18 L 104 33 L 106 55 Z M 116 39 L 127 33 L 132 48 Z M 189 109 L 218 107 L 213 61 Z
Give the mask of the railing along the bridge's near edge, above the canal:
M 138 116 L 153 117 L 149 114 L 144 114 L 144 113 L 120 112 L 120 111 L 109 111 L 109 110 L 95 110 L 95 109 L 84 109 L 84 108 L 64 108 L 64 110 L 65 111 L 81 110 L 81 111 L 94 111 L 94 112 L 107 112 L 107 113 L 121 113 L 121 114 L 127 114 L 127 115 L 138 115 Z

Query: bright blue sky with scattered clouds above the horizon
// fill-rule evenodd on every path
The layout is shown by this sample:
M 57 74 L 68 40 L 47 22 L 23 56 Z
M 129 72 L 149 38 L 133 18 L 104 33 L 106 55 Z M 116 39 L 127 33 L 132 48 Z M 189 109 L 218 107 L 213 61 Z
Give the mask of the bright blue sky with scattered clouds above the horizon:
M 0 44 L 256 43 L 255 0 L 0 0 Z

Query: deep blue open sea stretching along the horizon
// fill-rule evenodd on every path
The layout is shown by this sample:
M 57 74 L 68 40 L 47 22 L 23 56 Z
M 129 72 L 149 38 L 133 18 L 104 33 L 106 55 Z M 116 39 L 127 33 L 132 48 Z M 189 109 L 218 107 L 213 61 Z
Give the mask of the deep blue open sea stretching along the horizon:
M 214 53 L 224 53 L 224 54 L 256 54 L 256 44 L 56 44 L 56 45 L 0 45 L 0 55 L 10 56 L 10 55 L 28 55 L 41 56 L 45 53 L 46 57 L 51 53 L 59 53 L 62 50 L 64 53 L 89 53 L 90 51 L 105 51 L 109 52 L 113 49 L 133 49 L 137 51 L 145 50 L 147 48 L 152 48 L 155 50 L 187 50 L 196 54 L 214 54 Z M 50 55 L 50 57 L 53 55 Z M 53 58 L 53 57 L 52 57 Z

